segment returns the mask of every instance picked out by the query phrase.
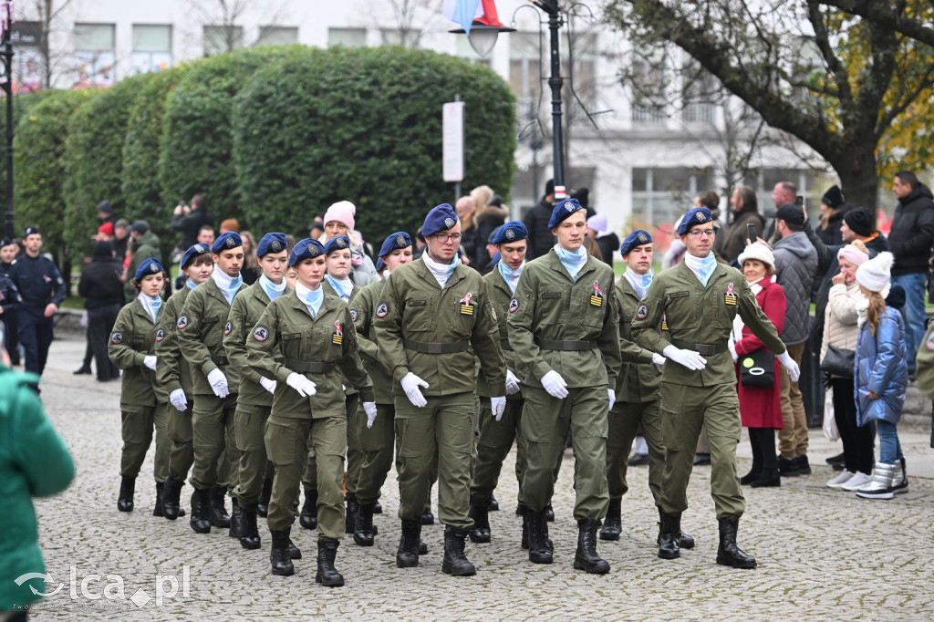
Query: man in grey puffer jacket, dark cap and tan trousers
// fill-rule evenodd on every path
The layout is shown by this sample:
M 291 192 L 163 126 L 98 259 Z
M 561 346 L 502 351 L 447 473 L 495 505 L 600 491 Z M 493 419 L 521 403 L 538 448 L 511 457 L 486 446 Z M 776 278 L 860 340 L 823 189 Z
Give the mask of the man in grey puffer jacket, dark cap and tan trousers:
M 785 290 L 785 328 L 782 341 L 788 354 L 800 363 L 810 336 L 811 287 L 817 272 L 817 251 L 804 233 L 804 211 L 800 205 L 785 204 L 775 214 L 775 232 L 781 239 L 772 248 L 775 275 Z M 778 431 L 779 472 L 783 476 L 810 474 L 808 464 L 808 421 L 798 382 L 782 369 L 782 418 Z

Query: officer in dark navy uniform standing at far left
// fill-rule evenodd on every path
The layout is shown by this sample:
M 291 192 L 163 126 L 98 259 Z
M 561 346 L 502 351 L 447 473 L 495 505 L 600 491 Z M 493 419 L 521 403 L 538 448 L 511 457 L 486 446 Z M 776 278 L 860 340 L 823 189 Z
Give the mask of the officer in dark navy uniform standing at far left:
M 24 369 L 42 375 L 52 343 L 52 316 L 64 301 L 64 279 L 49 258 L 39 254 L 42 233 L 26 227 L 22 236 L 26 252 L 10 268 L 9 276 L 22 296 L 19 313 L 20 344 L 26 352 Z

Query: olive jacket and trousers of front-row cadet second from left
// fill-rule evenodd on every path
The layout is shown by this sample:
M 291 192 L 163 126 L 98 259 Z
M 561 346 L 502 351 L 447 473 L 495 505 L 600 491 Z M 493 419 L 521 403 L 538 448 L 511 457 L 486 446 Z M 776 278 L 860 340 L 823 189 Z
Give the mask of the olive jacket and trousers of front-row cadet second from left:
M 506 394 L 500 334 L 487 284 L 474 269 L 459 263 L 442 288 L 423 260 L 405 263 L 389 275 L 373 327 L 379 358 L 392 372 L 399 423 L 399 517 L 417 520 L 428 507 L 436 461 L 439 518 L 450 527 L 469 528 L 474 353 L 484 365 L 490 391 Z M 400 384 L 409 372 L 429 385 L 421 389 L 428 402 L 423 408 L 409 402 Z

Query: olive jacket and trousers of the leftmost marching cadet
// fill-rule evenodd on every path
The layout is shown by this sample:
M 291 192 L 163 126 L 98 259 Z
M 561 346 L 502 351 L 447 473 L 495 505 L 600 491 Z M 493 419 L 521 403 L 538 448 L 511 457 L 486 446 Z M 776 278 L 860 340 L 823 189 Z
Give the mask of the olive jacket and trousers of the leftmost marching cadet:
M 156 353 L 156 330 L 156 322 L 152 321 L 146 307 L 139 299 L 134 299 L 120 309 L 110 332 L 107 355 L 123 370 L 120 385 L 120 435 L 123 438 L 120 475 L 136 477 L 139 474 L 155 429 L 154 475 L 156 483 L 161 484 L 169 467 L 169 441 L 165 430 L 168 394 L 156 384 L 155 372 L 143 362 L 148 355 Z

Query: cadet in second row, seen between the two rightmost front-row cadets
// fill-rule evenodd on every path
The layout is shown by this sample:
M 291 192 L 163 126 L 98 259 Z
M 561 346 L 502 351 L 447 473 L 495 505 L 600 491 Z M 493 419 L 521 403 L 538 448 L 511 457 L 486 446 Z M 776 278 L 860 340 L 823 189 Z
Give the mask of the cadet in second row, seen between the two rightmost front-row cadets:
M 626 272 L 616 278 L 616 308 L 619 315 L 619 338 L 622 343 L 632 339 L 632 318 L 639 301 L 652 283 L 652 258 L 655 247 L 652 236 L 641 229 L 626 236 L 619 248 Z M 624 362 L 616 376 L 616 404 L 610 410 L 609 436 L 606 440 L 606 479 L 610 490 L 610 505 L 600 530 L 601 540 L 619 540 L 622 531 L 620 506 L 629 490 L 626 484 L 627 459 L 639 425 L 648 445 L 648 488 L 658 505 L 661 478 L 665 468 L 665 444 L 661 437 L 661 414 L 658 385 L 665 358 L 652 354 L 652 361 Z M 661 507 L 658 507 L 661 514 Z M 681 548 L 694 548 L 694 539 L 681 532 Z

